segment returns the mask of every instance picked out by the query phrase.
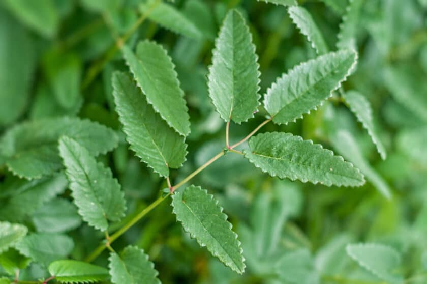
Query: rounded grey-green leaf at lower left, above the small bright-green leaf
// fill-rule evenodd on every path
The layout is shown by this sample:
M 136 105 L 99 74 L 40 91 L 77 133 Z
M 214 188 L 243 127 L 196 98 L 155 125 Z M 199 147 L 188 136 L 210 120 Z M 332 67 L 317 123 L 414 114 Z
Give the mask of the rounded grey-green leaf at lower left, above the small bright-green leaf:
M 66 235 L 33 233 L 20 240 L 15 247 L 26 257 L 47 266 L 52 261 L 67 257 L 74 242 Z

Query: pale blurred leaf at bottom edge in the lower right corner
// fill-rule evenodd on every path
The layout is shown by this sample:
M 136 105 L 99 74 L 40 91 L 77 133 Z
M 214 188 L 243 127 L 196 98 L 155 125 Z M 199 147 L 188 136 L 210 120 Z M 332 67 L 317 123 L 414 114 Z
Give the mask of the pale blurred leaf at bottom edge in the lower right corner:
M 400 283 L 402 277 L 393 275 L 391 270 L 398 266 L 401 257 L 393 248 L 382 244 L 349 244 L 347 254 L 361 267 L 390 283 Z

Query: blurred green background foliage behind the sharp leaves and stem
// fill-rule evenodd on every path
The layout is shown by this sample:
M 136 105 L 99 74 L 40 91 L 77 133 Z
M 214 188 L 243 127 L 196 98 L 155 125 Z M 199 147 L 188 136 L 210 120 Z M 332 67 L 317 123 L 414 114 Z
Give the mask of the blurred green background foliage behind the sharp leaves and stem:
M 79 116 L 120 133 L 119 147 L 99 157 L 111 166 L 126 194 L 127 218 L 153 201 L 165 181 L 127 148 L 112 100 L 111 73 L 126 70 L 115 44 L 151 39 L 168 49 L 185 91 L 191 134 L 187 162 L 171 173 L 179 181 L 224 146 L 225 124 L 212 106 L 206 75 L 211 49 L 230 8 L 247 18 L 259 55 L 261 94 L 283 72 L 316 56 L 289 18 L 287 8 L 253 0 L 176 0 L 178 9 L 202 32 L 197 38 L 170 31 L 141 17 L 141 0 L 2 0 L 0 2 L 0 133 L 46 117 Z M 278 1 L 280 2 L 280 1 Z M 347 0 L 299 0 L 333 50 Z M 247 271 L 233 273 L 185 234 L 165 202 L 114 243 L 143 248 L 163 283 L 385 283 L 347 254 L 349 243 L 374 242 L 394 248 L 400 263 L 390 272 L 400 282 L 427 282 L 427 1 L 365 0 L 356 15 L 357 71 L 344 83 L 372 105 L 385 145 L 382 160 L 367 132 L 340 96 L 287 126 L 288 131 L 333 149 L 366 176 L 359 188 L 337 188 L 278 180 L 230 153 L 191 183 L 213 193 L 242 242 Z M 136 28 L 136 29 L 135 29 Z M 260 122 L 231 124 L 231 143 Z M 31 135 L 31 133 L 29 133 Z M 103 143 L 103 141 L 99 141 Z M 86 255 L 103 239 L 81 223 L 70 191 L 58 181 L 13 176 L 0 156 L 0 219 L 25 223 L 35 232 L 67 232 L 71 257 Z M 46 186 L 54 182 L 56 186 Z M 59 183 L 59 184 L 58 184 Z M 60 187 L 58 189 L 58 187 Z M 380 192 L 391 191 L 391 198 Z M 66 216 L 57 218 L 58 215 Z M 121 224 L 115 225 L 120 228 Z M 9 254 L 5 255 L 5 254 Z M 20 279 L 46 275 L 14 250 Z M 104 252 L 96 263 L 106 265 Z M 378 257 L 374 255 L 374 258 Z M 14 266 L 12 265 L 12 268 Z M 405 280 L 403 280 L 405 279 Z

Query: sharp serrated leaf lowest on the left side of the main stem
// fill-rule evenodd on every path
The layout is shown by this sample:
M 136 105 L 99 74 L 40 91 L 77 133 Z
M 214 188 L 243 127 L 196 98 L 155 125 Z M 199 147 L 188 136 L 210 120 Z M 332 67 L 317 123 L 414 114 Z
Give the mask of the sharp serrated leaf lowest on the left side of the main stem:
M 124 194 L 111 169 L 69 137 L 59 139 L 59 152 L 79 214 L 89 225 L 106 231 L 107 220 L 119 221 L 126 209 Z

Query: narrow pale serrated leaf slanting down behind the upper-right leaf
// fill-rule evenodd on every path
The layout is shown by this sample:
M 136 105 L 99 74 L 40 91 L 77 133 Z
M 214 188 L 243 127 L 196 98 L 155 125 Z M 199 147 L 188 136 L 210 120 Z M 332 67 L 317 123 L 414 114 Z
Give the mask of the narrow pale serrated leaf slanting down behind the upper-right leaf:
M 289 7 L 288 13 L 301 34 L 306 36 L 312 47 L 316 49 L 317 54 L 325 54 L 329 51 L 323 35 L 309 11 L 301 6 L 292 6 Z

